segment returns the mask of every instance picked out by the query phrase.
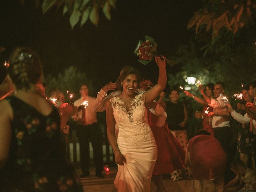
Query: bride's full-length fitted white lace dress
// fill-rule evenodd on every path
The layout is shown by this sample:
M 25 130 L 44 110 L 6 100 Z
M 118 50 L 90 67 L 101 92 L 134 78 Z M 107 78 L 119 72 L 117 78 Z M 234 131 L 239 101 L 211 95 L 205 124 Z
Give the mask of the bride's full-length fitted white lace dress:
M 110 102 L 119 129 L 118 148 L 127 161 L 123 166 L 118 165 L 114 185 L 118 192 L 150 192 L 157 148 L 142 94 L 130 100 L 116 96 Z

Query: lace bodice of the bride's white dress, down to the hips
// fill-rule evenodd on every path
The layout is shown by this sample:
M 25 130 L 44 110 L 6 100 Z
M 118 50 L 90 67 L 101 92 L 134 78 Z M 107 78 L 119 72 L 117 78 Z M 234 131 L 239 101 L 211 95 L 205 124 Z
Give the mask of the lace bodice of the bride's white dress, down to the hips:
M 118 96 L 110 99 L 119 130 L 117 142 L 122 141 L 135 148 L 152 134 L 142 94 L 131 100 L 121 100 Z

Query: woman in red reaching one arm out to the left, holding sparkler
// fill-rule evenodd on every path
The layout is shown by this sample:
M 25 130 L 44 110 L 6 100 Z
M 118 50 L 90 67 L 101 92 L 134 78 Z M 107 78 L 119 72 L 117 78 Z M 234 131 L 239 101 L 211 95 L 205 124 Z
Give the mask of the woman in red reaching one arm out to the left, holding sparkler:
M 204 93 L 208 97 L 213 98 L 213 95 L 214 95 L 213 90 L 214 90 L 214 84 L 209 83 L 205 86 Z M 212 112 L 212 107 L 208 106 L 208 103 L 204 99 L 202 99 L 198 96 L 195 96 L 194 94 L 190 93 L 189 91 L 184 91 L 184 93 L 186 94 L 186 96 L 193 98 L 196 102 L 198 102 L 204 106 L 203 107 L 203 113 L 204 113 L 203 129 L 208 131 L 211 134 L 211 136 L 214 136 L 214 132 L 212 129 L 212 117 L 209 116 L 209 114 L 211 114 L 211 112 Z

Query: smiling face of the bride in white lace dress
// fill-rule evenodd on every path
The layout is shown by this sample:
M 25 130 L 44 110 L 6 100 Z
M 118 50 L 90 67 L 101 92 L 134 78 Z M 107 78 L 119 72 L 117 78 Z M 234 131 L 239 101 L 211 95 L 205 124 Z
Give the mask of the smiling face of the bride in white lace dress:
M 134 96 L 134 92 L 138 87 L 138 78 L 135 74 L 129 74 L 122 81 L 123 93 L 128 96 Z

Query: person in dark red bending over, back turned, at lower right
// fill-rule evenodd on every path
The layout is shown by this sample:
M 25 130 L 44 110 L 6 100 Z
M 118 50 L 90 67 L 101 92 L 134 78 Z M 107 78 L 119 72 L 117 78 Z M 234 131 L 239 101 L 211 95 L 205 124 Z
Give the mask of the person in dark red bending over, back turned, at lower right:
M 212 180 L 216 191 L 224 189 L 227 156 L 220 142 L 206 130 L 198 130 L 187 145 L 185 164 L 192 169 L 195 192 L 203 191 L 204 180 Z

